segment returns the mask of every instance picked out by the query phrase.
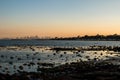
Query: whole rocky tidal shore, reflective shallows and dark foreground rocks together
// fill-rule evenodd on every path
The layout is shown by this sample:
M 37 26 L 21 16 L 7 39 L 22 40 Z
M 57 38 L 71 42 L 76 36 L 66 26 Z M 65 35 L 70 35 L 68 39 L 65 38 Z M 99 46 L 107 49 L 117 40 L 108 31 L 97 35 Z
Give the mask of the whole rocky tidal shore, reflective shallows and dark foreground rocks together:
M 115 46 L 1 46 L 0 78 L 117 80 L 119 56 L 119 47 Z

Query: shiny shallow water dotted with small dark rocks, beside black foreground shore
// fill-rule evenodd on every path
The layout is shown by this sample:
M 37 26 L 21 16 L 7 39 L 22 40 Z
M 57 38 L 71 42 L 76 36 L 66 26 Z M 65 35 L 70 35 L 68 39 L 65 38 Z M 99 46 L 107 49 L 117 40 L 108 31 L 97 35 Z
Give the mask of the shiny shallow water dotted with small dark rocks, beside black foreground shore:
M 109 57 L 118 56 L 113 51 L 59 51 L 50 50 L 50 47 L 40 46 L 8 46 L 0 47 L 0 73 L 18 73 L 19 71 L 37 72 L 38 68 L 53 66 L 38 65 L 51 63 L 59 66 L 65 63 L 79 61 L 100 61 Z M 34 64 L 31 64 L 34 63 Z M 19 68 L 22 66 L 23 69 Z

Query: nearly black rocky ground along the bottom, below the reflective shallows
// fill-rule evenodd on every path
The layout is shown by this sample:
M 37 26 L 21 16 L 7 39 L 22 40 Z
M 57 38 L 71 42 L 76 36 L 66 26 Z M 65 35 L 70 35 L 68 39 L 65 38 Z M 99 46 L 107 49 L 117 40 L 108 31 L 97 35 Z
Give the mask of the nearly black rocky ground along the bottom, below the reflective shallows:
M 0 74 L 0 80 L 119 80 L 120 66 L 110 62 L 78 62 L 55 68 L 40 68 L 41 72 Z

